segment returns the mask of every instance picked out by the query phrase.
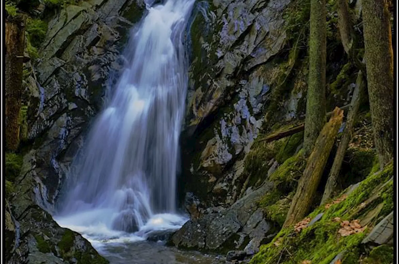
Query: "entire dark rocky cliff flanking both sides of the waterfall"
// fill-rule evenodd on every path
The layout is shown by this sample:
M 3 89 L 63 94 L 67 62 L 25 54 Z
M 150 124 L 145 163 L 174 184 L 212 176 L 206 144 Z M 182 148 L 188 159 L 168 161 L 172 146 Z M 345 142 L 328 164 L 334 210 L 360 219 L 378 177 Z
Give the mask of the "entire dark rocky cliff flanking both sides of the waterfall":
M 356 12 L 359 3 L 351 5 Z M 38 59 L 25 64 L 23 159 L 10 156 L 8 163 L 19 167 L 8 174 L 15 176 L 7 189 L 8 263 L 105 263 L 51 213 L 91 120 L 112 92 L 125 61 L 127 32 L 145 4 L 89 0 L 53 12 Z M 207 252 L 243 250 L 246 256 L 280 230 L 306 162 L 298 155 L 303 134 L 265 138 L 303 124 L 309 14 L 308 0 L 196 2 L 186 37 L 190 78 L 178 179 L 179 200 L 192 219 L 171 244 Z M 344 56 L 334 1 L 328 2 L 327 50 L 330 111 L 350 102 L 357 72 Z M 374 152 L 367 98 L 363 101 L 339 190 L 371 171 Z M 326 175 L 321 189 L 325 181 Z M 269 248 L 261 248 L 254 261 L 262 263 Z

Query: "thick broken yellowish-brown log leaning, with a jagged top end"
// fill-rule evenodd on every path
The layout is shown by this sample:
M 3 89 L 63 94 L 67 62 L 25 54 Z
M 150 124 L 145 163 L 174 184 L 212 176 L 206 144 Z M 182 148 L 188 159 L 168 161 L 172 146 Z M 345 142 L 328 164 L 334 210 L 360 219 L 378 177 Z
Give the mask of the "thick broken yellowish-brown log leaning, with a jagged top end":
M 297 223 L 308 213 L 343 117 L 344 111 L 336 107 L 330 121 L 324 125 L 320 132 L 312 154 L 308 158 L 303 175 L 299 179 L 298 188 L 292 199 L 283 228 Z

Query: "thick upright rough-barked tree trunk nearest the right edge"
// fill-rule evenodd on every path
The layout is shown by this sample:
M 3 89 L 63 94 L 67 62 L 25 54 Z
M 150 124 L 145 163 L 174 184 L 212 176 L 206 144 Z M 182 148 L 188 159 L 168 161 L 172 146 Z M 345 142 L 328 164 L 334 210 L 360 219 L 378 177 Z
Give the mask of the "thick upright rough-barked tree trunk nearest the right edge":
M 371 122 L 381 168 L 393 158 L 393 50 L 387 0 L 362 0 Z

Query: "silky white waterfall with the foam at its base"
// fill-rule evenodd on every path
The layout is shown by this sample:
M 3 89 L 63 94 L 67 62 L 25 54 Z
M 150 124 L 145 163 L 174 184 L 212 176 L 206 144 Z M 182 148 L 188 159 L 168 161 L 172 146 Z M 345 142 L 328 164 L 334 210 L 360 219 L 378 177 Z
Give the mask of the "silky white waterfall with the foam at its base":
M 175 197 L 188 82 L 183 38 L 193 4 L 168 0 L 148 7 L 130 36 L 112 99 L 74 161 L 69 178 L 77 183 L 55 220 L 97 248 L 144 240 L 150 231 L 187 221 L 176 215 Z

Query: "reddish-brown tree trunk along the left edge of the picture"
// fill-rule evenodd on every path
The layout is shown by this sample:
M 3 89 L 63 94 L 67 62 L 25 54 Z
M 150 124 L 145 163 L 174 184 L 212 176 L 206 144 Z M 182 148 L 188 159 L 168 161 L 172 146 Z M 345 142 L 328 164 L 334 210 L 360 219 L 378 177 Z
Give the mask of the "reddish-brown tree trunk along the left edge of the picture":
M 25 20 L 23 15 L 6 19 L 6 150 L 10 151 L 16 151 L 20 142 Z

